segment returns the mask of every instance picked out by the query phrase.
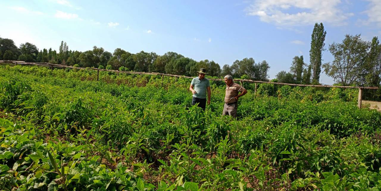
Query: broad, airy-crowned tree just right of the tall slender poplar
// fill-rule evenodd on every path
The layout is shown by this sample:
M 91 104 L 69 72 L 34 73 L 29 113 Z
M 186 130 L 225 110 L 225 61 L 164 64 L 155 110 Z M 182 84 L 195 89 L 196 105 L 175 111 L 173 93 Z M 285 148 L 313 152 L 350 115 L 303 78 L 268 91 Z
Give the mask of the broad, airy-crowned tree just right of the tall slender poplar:
M 343 86 L 356 83 L 365 71 L 368 49 L 369 42 L 363 41 L 360 35 L 345 35 L 342 43 L 334 42 L 329 46 L 335 59 L 323 65 L 324 72 Z

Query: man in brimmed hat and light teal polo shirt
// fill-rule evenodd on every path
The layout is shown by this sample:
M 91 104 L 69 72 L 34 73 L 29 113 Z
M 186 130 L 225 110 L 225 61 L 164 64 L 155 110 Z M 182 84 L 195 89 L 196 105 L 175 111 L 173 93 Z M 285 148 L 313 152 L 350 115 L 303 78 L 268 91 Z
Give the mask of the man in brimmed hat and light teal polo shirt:
M 205 68 L 201 68 L 199 76 L 193 78 L 189 90 L 192 92 L 192 105 L 199 103 L 199 107 L 205 111 L 205 104 L 210 104 L 210 83 L 207 78 L 205 78 Z M 207 102 L 207 92 L 208 92 L 208 102 Z

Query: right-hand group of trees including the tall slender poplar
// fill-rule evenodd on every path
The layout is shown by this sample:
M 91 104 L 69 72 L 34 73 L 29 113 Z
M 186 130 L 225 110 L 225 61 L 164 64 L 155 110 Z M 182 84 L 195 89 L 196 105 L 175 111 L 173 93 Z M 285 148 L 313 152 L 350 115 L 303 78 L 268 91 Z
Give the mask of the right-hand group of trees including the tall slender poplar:
M 361 39 L 361 35 L 345 35 L 341 43 L 333 42 L 328 47 L 334 59 L 322 65 L 322 51 L 325 51 L 325 35 L 322 23 L 315 23 L 309 51 L 310 64 L 303 56 L 293 58 L 290 72 L 280 71 L 276 79 L 282 83 L 319 84 L 320 73 L 332 77 L 343 86 L 381 85 L 381 44 L 378 37 L 372 41 Z M 378 95 L 379 96 L 379 95 Z

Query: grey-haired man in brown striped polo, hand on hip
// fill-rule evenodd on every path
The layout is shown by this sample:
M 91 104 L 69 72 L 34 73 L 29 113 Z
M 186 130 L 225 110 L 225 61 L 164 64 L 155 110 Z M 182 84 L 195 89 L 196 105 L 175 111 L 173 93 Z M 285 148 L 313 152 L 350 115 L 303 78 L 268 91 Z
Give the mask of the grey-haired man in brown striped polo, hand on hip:
M 225 91 L 225 105 L 222 115 L 230 115 L 237 118 L 237 108 L 238 108 L 238 98 L 247 93 L 247 90 L 241 85 L 233 82 L 233 77 L 231 75 L 226 75 L 224 77 L 226 84 Z M 241 92 L 238 94 L 238 92 Z

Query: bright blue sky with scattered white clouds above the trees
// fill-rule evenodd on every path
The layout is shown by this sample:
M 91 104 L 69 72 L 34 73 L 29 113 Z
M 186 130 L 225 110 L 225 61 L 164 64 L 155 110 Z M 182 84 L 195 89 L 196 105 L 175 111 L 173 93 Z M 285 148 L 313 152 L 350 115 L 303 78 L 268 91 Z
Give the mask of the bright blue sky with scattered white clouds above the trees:
M 270 78 L 288 71 L 294 56 L 303 55 L 309 64 L 315 22 L 327 30 L 327 49 L 345 34 L 381 36 L 381 0 L 0 0 L 0 18 L 0 37 L 16 46 L 30 42 L 58 50 L 63 40 L 78 51 L 174 51 L 221 67 L 253 57 L 269 62 Z M 323 63 L 331 60 L 323 52 Z M 320 82 L 333 80 L 322 74 Z

